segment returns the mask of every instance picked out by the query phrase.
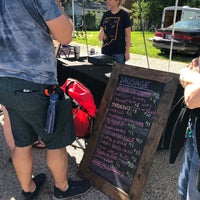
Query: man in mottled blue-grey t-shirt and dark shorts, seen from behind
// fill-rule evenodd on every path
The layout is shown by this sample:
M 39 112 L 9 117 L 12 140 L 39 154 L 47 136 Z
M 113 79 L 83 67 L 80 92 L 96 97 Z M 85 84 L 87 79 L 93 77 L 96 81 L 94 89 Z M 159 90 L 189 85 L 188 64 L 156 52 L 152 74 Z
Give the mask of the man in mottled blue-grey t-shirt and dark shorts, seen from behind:
M 81 195 L 90 181 L 67 180 L 66 146 L 75 140 L 71 101 L 62 98 L 57 81 L 52 38 L 72 40 L 72 23 L 60 0 L 0 1 L 0 104 L 9 113 L 15 148 L 12 162 L 26 200 L 35 199 L 45 174 L 32 179 L 32 144 L 38 136 L 47 147 L 47 164 L 54 178 L 54 199 Z M 54 90 L 56 88 L 56 90 Z M 55 129 L 45 130 L 49 97 L 58 92 Z M 12 191 L 11 191 L 12 194 Z

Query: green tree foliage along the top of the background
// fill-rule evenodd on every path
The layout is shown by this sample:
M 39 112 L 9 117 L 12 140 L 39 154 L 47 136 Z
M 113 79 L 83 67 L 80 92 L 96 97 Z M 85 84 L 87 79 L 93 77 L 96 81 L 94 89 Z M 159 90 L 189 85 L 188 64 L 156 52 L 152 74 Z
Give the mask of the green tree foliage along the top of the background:
M 87 2 L 105 2 L 105 0 L 85 0 Z M 160 28 L 162 12 L 167 6 L 174 6 L 176 0 L 124 0 L 123 5 L 131 7 L 131 21 L 132 30 L 149 30 L 150 27 Z M 71 3 L 71 0 L 65 0 L 64 5 L 67 6 Z M 199 0 L 179 0 L 179 6 L 200 7 Z M 141 14 L 141 15 L 140 15 Z M 141 23 L 142 22 L 142 23 Z M 97 24 L 95 24 L 95 16 L 86 16 L 87 30 L 97 30 Z

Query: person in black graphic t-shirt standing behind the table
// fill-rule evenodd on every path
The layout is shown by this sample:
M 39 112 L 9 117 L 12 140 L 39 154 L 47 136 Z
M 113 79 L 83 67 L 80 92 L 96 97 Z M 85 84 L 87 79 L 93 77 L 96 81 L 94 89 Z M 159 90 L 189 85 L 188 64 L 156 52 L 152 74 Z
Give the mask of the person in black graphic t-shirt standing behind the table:
M 122 0 L 107 0 L 109 11 L 103 14 L 98 38 L 102 41 L 101 53 L 124 64 L 130 59 L 131 22 L 129 14 L 120 8 L 121 3 Z

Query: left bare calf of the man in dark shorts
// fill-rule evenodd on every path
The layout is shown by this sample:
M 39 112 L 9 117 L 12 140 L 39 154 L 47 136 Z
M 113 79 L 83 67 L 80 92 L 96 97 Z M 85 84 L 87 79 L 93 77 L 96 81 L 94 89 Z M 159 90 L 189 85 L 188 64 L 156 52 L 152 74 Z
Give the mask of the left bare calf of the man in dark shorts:
M 32 145 L 27 147 L 15 147 L 12 160 L 22 189 L 25 192 L 33 192 L 36 186 L 32 180 Z

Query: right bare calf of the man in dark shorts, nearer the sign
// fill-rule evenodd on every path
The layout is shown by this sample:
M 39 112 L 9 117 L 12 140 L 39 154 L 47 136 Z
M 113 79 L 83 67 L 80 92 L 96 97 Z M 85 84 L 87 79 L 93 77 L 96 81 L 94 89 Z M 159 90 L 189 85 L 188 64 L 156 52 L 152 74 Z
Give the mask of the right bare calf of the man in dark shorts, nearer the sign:
M 68 154 L 66 148 L 48 150 L 47 164 L 53 174 L 55 186 L 65 191 L 68 187 Z

